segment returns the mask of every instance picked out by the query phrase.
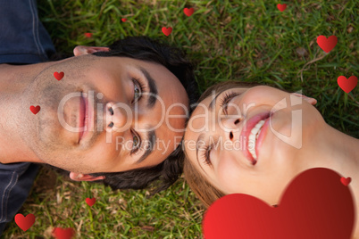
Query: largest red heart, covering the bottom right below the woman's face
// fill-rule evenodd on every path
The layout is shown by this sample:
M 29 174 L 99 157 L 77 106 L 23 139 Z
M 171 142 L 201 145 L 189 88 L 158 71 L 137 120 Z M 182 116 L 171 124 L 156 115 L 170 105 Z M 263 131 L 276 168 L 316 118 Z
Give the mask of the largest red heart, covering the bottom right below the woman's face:
M 348 186 L 330 169 L 309 169 L 286 188 L 278 207 L 246 194 L 230 194 L 205 213 L 205 239 L 351 238 L 355 206 Z

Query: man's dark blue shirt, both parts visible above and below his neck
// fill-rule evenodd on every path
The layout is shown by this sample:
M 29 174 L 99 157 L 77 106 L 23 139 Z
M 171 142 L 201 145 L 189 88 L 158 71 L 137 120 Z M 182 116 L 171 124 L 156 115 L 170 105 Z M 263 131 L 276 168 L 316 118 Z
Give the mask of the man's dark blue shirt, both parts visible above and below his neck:
M 36 0 L 0 0 L 0 63 L 47 62 L 50 54 L 54 45 L 38 20 Z M 37 173 L 33 163 L 0 163 L 0 235 L 21 209 Z

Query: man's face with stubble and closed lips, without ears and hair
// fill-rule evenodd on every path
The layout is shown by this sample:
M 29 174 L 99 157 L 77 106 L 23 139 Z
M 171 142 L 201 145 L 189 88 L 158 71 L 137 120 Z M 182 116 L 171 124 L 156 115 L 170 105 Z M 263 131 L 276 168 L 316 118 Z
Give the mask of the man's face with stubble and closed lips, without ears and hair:
M 64 77 L 56 80 L 55 71 Z M 161 163 L 183 136 L 188 108 L 184 87 L 163 65 L 116 56 L 56 62 L 23 99 L 29 147 L 45 163 L 84 174 Z M 41 110 L 34 115 L 30 105 Z

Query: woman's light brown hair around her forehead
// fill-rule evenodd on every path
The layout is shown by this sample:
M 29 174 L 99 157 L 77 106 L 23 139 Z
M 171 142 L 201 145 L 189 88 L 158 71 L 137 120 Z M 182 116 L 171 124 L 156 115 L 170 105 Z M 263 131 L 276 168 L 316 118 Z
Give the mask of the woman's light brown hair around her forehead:
M 248 83 L 248 82 L 238 82 L 238 81 L 226 81 L 221 82 L 213 87 L 209 87 L 205 90 L 204 94 L 199 97 L 198 103 L 202 102 L 212 94 L 214 91 L 215 94 L 220 94 L 221 92 L 228 90 L 230 88 L 238 88 L 238 87 L 256 87 L 259 86 L 257 83 Z M 186 134 L 186 133 L 185 133 Z M 192 189 L 192 191 L 196 194 L 198 199 L 205 205 L 205 208 L 208 208 L 214 201 L 220 199 L 225 194 L 221 192 L 218 188 L 212 185 L 200 172 L 196 169 L 196 166 L 188 159 L 188 155 L 185 150 L 185 161 L 183 165 L 183 172 L 185 175 L 185 179 Z

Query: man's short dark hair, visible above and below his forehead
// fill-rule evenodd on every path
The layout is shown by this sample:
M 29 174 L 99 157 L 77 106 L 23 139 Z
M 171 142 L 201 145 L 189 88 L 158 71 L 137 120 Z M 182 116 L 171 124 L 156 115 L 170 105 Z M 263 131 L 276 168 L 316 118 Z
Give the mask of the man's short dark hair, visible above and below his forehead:
M 184 52 L 179 48 L 156 41 L 149 37 L 127 37 L 110 45 L 109 52 L 96 52 L 94 55 L 130 57 L 146 62 L 155 62 L 163 65 L 172 72 L 186 89 L 189 105 L 198 99 L 197 84 L 193 65 L 186 59 Z M 188 105 L 188 111 L 191 109 Z M 162 163 L 140 169 L 131 169 L 115 173 L 94 173 L 91 176 L 104 176 L 102 182 L 116 189 L 144 189 L 154 185 L 153 193 L 158 193 L 171 186 L 180 177 L 183 170 L 184 155 L 181 145 L 172 152 Z M 53 168 L 54 167 L 50 167 Z M 64 171 L 57 169 L 56 171 Z M 68 173 L 68 172 L 67 172 Z M 155 183 L 156 182 L 156 183 Z M 155 183 L 155 184 L 154 184 Z

